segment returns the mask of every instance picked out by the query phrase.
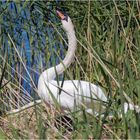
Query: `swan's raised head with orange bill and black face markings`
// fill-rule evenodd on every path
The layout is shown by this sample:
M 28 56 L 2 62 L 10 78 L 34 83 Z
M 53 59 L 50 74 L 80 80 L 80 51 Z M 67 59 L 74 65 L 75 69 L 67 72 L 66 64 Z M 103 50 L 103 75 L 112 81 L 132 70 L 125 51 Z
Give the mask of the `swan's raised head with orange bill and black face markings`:
M 64 13 L 63 11 L 57 9 L 57 15 L 61 19 L 63 28 L 67 32 L 70 32 L 70 31 L 74 30 L 72 21 L 71 21 L 70 17 L 66 13 Z

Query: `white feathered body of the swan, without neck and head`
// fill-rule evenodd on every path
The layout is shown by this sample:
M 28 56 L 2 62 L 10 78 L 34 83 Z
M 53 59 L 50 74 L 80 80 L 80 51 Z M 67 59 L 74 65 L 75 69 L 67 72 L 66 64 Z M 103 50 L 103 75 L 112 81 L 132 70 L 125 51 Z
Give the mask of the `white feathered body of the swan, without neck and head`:
M 40 95 L 46 102 L 53 104 L 53 97 L 55 97 L 57 102 L 64 108 L 73 108 L 75 102 L 81 104 L 83 100 L 87 104 L 91 103 L 91 100 L 107 102 L 107 98 L 101 88 L 86 81 L 67 80 L 63 83 L 52 80 L 49 84 L 47 82 L 46 88 L 40 89 L 40 91 Z

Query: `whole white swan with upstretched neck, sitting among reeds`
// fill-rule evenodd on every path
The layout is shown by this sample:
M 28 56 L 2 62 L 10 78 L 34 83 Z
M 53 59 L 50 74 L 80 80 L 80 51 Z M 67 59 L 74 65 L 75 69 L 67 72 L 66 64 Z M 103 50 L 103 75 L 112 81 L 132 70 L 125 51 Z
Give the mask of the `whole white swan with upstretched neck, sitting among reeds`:
M 58 11 L 59 16 L 64 16 Z M 62 18 L 62 17 L 61 17 Z M 55 67 L 45 70 L 39 77 L 38 94 L 46 103 L 54 104 L 55 100 L 63 108 L 73 109 L 75 105 L 86 105 L 93 102 L 93 98 L 101 101 L 107 101 L 107 98 L 100 87 L 79 80 L 55 81 L 56 75 L 71 64 L 77 46 L 76 36 L 71 19 L 61 19 L 62 26 L 68 37 L 68 51 L 62 63 Z M 91 99 L 92 97 L 92 99 Z

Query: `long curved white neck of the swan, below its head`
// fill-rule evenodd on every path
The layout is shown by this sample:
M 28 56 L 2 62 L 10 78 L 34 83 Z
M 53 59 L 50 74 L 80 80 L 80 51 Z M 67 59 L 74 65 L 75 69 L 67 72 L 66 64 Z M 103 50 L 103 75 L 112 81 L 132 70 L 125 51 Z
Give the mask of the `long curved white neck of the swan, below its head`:
M 64 58 L 64 60 L 56 65 L 55 67 L 51 67 L 47 70 L 45 70 L 40 77 L 43 78 L 45 82 L 54 80 L 56 75 L 60 75 L 63 73 L 63 71 L 69 67 L 71 62 L 73 61 L 74 55 L 75 55 L 75 50 L 76 50 L 76 36 L 75 36 L 75 31 L 72 28 L 69 31 L 66 31 L 67 37 L 68 37 L 68 51 L 67 54 Z

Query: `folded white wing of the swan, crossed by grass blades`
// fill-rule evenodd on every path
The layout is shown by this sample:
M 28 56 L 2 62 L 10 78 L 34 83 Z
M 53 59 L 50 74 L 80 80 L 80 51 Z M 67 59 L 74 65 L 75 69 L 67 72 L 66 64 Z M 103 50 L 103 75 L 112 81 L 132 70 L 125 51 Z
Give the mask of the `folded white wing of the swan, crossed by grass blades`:
M 61 86 L 60 86 L 61 85 Z M 59 91 L 61 104 L 70 104 L 74 106 L 74 102 L 88 104 L 91 100 L 107 101 L 107 98 L 101 88 L 86 81 L 67 80 L 59 82 Z

